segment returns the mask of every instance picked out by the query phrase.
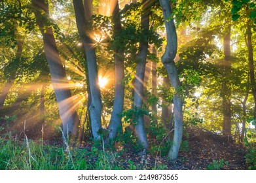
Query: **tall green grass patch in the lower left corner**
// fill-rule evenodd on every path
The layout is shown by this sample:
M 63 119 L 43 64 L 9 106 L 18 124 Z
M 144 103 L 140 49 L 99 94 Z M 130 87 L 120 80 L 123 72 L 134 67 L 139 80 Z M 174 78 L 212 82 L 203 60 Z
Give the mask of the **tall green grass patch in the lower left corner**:
M 121 169 L 117 154 L 105 150 L 43 145 L 10 135 L 0 137 L 0 169 L 2 170 L 79 170 Z M 94 161 L 92 161 L 95 159 Z

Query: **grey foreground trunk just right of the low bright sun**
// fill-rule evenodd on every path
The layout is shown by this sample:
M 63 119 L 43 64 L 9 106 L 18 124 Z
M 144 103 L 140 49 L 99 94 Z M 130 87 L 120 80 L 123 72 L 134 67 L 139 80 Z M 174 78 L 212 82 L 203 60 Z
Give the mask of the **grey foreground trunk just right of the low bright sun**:
M 113 31 L 114 35 L 117 35 L 122 29 L 120 14 L 119 14 L 119 2 L 115 5 L 113 12 Z M 115 39 L 115 37 L 114 37 Z M 109 139 L 117 137 L 117 129 L 122 130 L 122 110 L 124 108 L 124 51 L 115 48 L 115 97 L 111 119 L 109 122 Z

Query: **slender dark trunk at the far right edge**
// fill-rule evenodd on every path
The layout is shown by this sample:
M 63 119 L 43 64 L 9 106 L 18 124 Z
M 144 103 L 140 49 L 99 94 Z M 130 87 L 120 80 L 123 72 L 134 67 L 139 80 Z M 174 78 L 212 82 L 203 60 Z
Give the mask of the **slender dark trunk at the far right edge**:
M 255 82 L 255 74 L 254 74 L 254 61 L 253 61 L 253 45 L 251 42 L 251 25 L 250 22 L 247 22 L 247 30 L 246 30 L 246 45 L 248 50 L 248 60 L 249 60 L 249 78 L 251 80 L 251 92 L 253 93 L 254 99 L 254 110 L 253 110 L 253 118 L 256 120 L 256 82 Z M 255 125 L 256 129 L 256 125 Z

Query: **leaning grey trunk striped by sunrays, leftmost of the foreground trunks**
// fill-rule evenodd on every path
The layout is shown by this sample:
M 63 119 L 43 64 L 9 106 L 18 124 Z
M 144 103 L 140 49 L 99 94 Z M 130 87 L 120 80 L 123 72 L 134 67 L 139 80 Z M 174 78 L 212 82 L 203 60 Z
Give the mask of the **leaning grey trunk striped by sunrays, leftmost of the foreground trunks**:
M 68 81 L 62 61 L 60 60 L 52 27 L 46 22 L 49 18 L 48 3 L 45 0 L 31 1 L 34 7 L 37 25 L 43 35 L 45 56 L 48 61 L 52 86 L 62 120 L 63 135 L 64 137 L 68 137 L 69 135 L 76 136 L 79 118 L 73 107 L 70 90 L 62 87 L 64 84 L 66 85 Z M 45 13 L 45 16 L 42 15 L 42 12 Z

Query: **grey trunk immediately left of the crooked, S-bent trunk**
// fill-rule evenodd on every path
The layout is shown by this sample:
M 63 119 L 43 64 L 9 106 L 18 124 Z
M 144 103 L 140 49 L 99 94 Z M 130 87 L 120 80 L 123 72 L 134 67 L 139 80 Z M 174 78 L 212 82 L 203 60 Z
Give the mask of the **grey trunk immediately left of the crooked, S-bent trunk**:
M 141 15 L 141 29 L 144 36 L 147 37 L 149 31 L 149 7 L 147 7 L 146 1 L 143 1 L 143 14 Z M 134 108 L 142 108 L 143 105 L 143 81 L 145 75 L 145 65 L 147 59 L 148 41 L 139 42 L 139 52 L 137 54 L 136 65 L 136 77 L 134 81 Z M 147 133 L 145 131 L 143 116 L 136 116 L 137 124 L 135 125 L 135 133 L 138 138 L 139 144 L 143 148 L 149 148 L 149 142 L 147 141 Z

